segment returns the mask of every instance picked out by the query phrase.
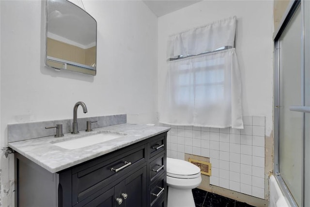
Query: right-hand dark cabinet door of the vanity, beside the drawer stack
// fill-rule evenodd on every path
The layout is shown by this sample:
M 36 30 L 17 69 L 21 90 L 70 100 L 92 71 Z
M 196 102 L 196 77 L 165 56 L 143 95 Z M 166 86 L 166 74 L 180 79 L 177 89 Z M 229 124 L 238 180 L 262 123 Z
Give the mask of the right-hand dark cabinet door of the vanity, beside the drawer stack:
M 123 199 L 123 204 L 118 205 L 116 202 L 115 207 L 123 205 L 125 207 L 146 207 L 146 181 L 146 166 L 126 177 L 122 183 L 115 187 L 115 199 Z

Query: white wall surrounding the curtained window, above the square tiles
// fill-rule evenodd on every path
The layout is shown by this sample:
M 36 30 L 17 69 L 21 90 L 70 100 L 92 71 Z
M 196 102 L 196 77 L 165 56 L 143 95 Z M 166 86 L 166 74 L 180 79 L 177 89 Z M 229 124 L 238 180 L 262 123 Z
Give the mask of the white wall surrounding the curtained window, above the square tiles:
M 266 117 L 266 135 L 270 136 L 273 95 L 272 12 L 272 1 L 205 0 L 159 17 L 158 97 L 161 97 L 161 91 L 164 90 L 168 36 L 236 16 L 235 43 L 242 76 L 243 116 Z

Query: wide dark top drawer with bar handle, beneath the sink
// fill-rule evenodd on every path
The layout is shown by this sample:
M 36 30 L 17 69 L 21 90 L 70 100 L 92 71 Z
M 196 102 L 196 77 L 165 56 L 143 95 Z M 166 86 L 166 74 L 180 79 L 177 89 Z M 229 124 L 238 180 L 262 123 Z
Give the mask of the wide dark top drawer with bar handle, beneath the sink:
M 102 189 L 110 182 L 131 172 L 146 162 L 146 148 L 142 145 L 129 151 L 119 150 L 105 156 L 106 159 L 86 169 L 73 169 L 72 174 L 72 204 L 75 205 L 94 192 Z M 84 166 L 79 166 L 84 168 Z

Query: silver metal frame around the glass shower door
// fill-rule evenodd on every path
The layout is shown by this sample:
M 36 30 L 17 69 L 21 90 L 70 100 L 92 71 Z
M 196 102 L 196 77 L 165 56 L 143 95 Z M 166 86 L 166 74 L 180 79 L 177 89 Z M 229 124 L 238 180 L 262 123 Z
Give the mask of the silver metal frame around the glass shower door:
M 284 32 L 285 28 L 288 26 L 290 20 L 294 16 L 295 12 L 297 11 L 298 7 L 301 7 L 301 15 L 302 15 L 302 43 L 301 43 L 301 68 L 302 71 L 301 73 L 304 74 L 304 36 L 305 36 L 305 25 L 304 25 L 304 2 L 303 0 L 291 0 L 287 10 L 285 11 L 283 18 L 279 24 L 279 28 L 277 31 L 275 31 L 274 35 L 274 174 L 276 175 L 276 180 L 279 184 L 279 187 L 281 191 L 283 192 L 284 196 L 288 200 L 288 202 L 291 204 L 292 207 L 298 207 L 296 204 L 294 197 L 290 193 L 289 189 L 287 188 L 283 178 L 281 177 L 281 174 L 279 172 L 279 130 L 280 130 L 280 93 L 279 93 L 279 86 L 280 86 L 280 80 L 279 80 L 279 75 L 280 75 L 280 60 L 279 60 L 279 39 L 282 33 Z M 302 83 L 301 86 L 304 86 L 304 79 L 302 78 Z M 301 88 L 301 96 L 302 96 L 302 103 L 304 103 L 304 89 L 303 87 Z M 298 113 L 298 112 L 296 112 Z M 304 157 L 305 157 L 305 115 L 303 115 L 302 119 L 302 155 L 303 155 L 303 160 L 302 160 L 302 204 L 301 206 L 304 207 L 305 204 L 305 199 L 304 199 L 304 180 L 305 180 L 305 175 L 304 175 Z

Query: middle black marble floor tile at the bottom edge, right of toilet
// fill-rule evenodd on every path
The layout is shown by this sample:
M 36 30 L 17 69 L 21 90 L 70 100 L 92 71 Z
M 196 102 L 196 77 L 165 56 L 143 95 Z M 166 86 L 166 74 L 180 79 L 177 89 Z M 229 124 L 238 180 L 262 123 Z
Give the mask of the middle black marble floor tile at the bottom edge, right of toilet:
M 208 192 L 202 207 L 234 207 L 235 200 Z

